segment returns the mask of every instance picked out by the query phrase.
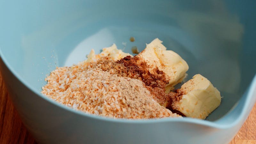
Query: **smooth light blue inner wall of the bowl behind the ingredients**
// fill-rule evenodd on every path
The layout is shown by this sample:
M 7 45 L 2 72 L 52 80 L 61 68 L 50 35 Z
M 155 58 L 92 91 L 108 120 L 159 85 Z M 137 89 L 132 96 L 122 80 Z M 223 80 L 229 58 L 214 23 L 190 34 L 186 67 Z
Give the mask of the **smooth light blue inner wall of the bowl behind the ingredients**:
M 256 72 L 253 4 L 238 1 L 18 1 L 0 4 L 0 49 L 17 76 L 40 92 L 57 66 L 115 43 L 131 53 L 159 38 L 208 78 L 223 97 L 207 119 L 224 116 Z M 254 3 L 253 1 L 251 3 Z M 251 9 L 250 9 L 251 8 Z M 8 13 L 8 15 L 6 15 Z M 135 42 L 129 38 L 135 37 Z

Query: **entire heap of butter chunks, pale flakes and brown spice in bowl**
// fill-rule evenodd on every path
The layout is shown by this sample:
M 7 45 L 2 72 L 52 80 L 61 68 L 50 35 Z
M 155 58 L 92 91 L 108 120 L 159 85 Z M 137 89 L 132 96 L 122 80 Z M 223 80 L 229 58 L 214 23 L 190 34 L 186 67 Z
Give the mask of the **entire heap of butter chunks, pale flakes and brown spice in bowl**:
M 197 74 L 187 76 L 188 64 L 155 39 L 137 56 L 116 45 L 90 52 L 87 60 L 57 67 L 45 78 L 42 93 L 88 114 L 124 119 L 189 116 L 205 119 L 220 105 L 220 92 Z

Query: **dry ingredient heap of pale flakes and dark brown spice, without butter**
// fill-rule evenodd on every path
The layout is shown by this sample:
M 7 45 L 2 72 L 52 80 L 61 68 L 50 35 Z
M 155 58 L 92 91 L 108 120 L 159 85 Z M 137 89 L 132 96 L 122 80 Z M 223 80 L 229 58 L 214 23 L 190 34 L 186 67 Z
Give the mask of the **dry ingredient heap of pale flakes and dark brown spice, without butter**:
M 45 78 L 47 84 L 42 87 L 42 93 L 68 107 L 100 116 L 127 119 L 180 117 L 159 104 L 159 95 L 164 98 L 162 101 L 173 97 L 164 94 L 161 88 L 161 84 L 166 83 L 161 78 L 163 73 L 150 75 L 143 69 L 146 65 L 138 65 L 134 59 L 136 57 L 131 56 L 118 61 L 100 59 L 56 68 Z

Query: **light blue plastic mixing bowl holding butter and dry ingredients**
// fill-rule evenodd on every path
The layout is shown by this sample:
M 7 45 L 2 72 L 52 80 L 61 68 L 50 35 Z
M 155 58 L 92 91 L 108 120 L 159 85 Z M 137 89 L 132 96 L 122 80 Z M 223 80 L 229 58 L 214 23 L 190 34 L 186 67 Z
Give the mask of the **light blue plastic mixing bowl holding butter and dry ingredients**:
M 254 0 L 1 1 L 1 73 L 39 143 L 228 143 L 256 101 L 255 7 Z M 111 119 L 40 93 L 46 74 L 92 48 L 116 43 L 131 52 L 156 37 L 188 62 L 188 79 L 200 73 L 220 90 L 220 107 L 206 120 Z

